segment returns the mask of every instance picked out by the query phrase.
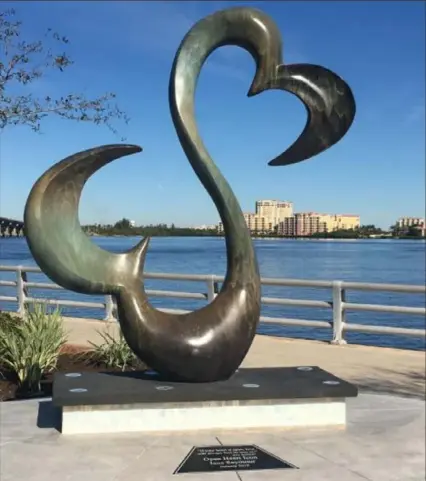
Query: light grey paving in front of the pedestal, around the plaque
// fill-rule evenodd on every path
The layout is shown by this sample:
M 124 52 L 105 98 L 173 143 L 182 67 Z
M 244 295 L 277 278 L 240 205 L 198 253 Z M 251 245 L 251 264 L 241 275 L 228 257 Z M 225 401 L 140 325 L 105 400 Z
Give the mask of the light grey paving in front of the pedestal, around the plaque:
M 362 394 L 345 430 L 62 436 L 47 401 L 0 403 L 1 481 L 424 481 L 425 405 Z M 256 444 L 299 469 L 172 473 L 193 446 Z

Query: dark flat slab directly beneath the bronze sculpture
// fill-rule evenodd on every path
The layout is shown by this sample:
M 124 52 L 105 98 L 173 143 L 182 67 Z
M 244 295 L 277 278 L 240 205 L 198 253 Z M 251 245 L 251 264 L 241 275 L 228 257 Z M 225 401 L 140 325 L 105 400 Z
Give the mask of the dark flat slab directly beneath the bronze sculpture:
M 264 404 L 357 394 L 354 385 L 315 366 L 239 369 L 227 381 L 197 384 L 167 382 L 154 372 L 58 373 L 53 381 L 53 404 L 63 407 L 232 401 Z

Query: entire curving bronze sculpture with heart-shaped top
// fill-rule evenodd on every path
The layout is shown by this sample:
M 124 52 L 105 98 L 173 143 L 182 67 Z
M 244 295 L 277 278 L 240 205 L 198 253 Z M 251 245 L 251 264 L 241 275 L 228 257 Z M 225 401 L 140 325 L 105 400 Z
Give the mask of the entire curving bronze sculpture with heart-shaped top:
M 250 233 L 239 203 L 198 135 L 194 94 L 204 61 L 222 45 L 246 49 L 256 62 L 248 96 L 281 89 L 298 96 L 308 119 L 300 137 L 269 165 L 308 159 L 338 142 L 355 115 L 348 85 L 320 66 L 281 64 L 281 38 L 261 11 L 235 7 L 194 25 L 174 60 L 169 102 L 172 119 L 194 172 L 214 201 L 223 222 L 227 273 L 209 305 L 188 314 L 154 309 L 142 275 L 149 239 L 124 254 L 93 244 L 78 221 L 81 191 L 107 163 L 142 149 L 106 145 L 55 164 L 34 185 L 25 207 L 25 229 L 34 259 L 54 282 L 84 294 L 115 296 L 124 337 L 152 369 L 170 380 L 210 382 L 228 379 L 254 339 L 260 316 L 260 278 Z

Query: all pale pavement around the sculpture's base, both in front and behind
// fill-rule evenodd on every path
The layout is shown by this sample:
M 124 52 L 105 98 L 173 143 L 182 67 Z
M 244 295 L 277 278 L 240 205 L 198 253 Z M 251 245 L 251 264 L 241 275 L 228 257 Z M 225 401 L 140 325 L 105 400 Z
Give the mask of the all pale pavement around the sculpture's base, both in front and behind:
M 87 319 L 65 323 L 69 341 L 81 346 L 96 342 L 105 327 Z M 67 437 L 58 432 L 49 399 L 0 403 L 0 479 L 424 481 L 424 352 L 258 335 L 243 363 L 288 365 L 319 365 L 358 384 L 359 396 L 348 400 L 346 428 Z M 298 469 L 173 474 L 194 446 L 220 444 L 254 444 Z

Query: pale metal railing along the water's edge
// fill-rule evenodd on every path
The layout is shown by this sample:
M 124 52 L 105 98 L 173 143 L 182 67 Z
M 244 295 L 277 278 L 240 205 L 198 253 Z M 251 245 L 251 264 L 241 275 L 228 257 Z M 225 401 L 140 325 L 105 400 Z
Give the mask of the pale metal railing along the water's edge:
M 0 296 L 0 301 L 17 302 L 18 312 L 23 313 L 26 304 L 31 303 L 45 303 L 54 304 L 58 306 L 72 306 L 105 309 L 105 321 L 114 321 L 115 304 L 111 296 L 105 296 L 105 302 L 87 302 L 87 301 L 70 301 L 62 299 L 43 299 L 30 296 L 29 289 L 55 289 L 63 290 L 61 286 L 53 283 L 45 282 L 29 282 L 27 273 L 41 273 L 38 267 L 23 267 L 23 266 L 0 266 L 0 271 L 15 272 L 15 281 L 0 280 L 0 287 L 15 287 L 16 296 Z M 146 290 L 147 294 L 152 297 L 170 297 L 175 299 L 198 299 L 211 302 L 219 292 L 219 283 L 223 282 L 223 276 L 216 275 L 197 275 L 197 274 L 160 274 L 160 273 L 145 273 L 144 279 L 161 279 L 172 281 L 203 281 L 207 285 L 207 292 L 184 292 L 184 291 L 166 291 L 166 290 Z M 283 299 L 277 297 L 262 297 L 262 304 L 265 305 L 279 305 L 279 306 L 297 306 L 308 308 L 326 308 L 331 310 L 332 320 L 318 321 L 305 319 L 289 319 L 282 317 L 266 317 L 260 318 L 261 322 L 281 324 L 287 326 L 303 326 L 314 328 L 326 328 L 332 331 L 332 344 L 346 344 L 344 339 L 345 331 L 357 331 L 376 334 L 394 334 L 413 337 L 425 337 L 425 329 L 411 329 L 404 327 L 391 326 L 374 326 L 364 324 L 348 323 L 345 317 L 347 311 L 370 311 L 370 312 L 389 312 L 401 313 L 409 315 L 426 315 L 426 308 L 424 307 L 405 307 L 394 305 L 380 305 L 380 304 L 360 304 L 353 302 L 346 302 L 346 291 L 387 291 L 400 292 L 410 294 L 423 294 L 426 292 L 425 286 L 420 285 L 405 285 L 405 284 L 371 284 L 363 282 L 344 282 L 344 281 L 315 281 L 315 280 L 299 280 L 299 279 L 273 279 L 262 278 L 263 286 L 286 286 L 286 287 L 305 287 L 318 289 L 331 289 L 332 301 L 322 300 L 305 300 L 305 299 Z M 161 309 L 165 312 L 182 314 L 190 312 L 181 309 Z

